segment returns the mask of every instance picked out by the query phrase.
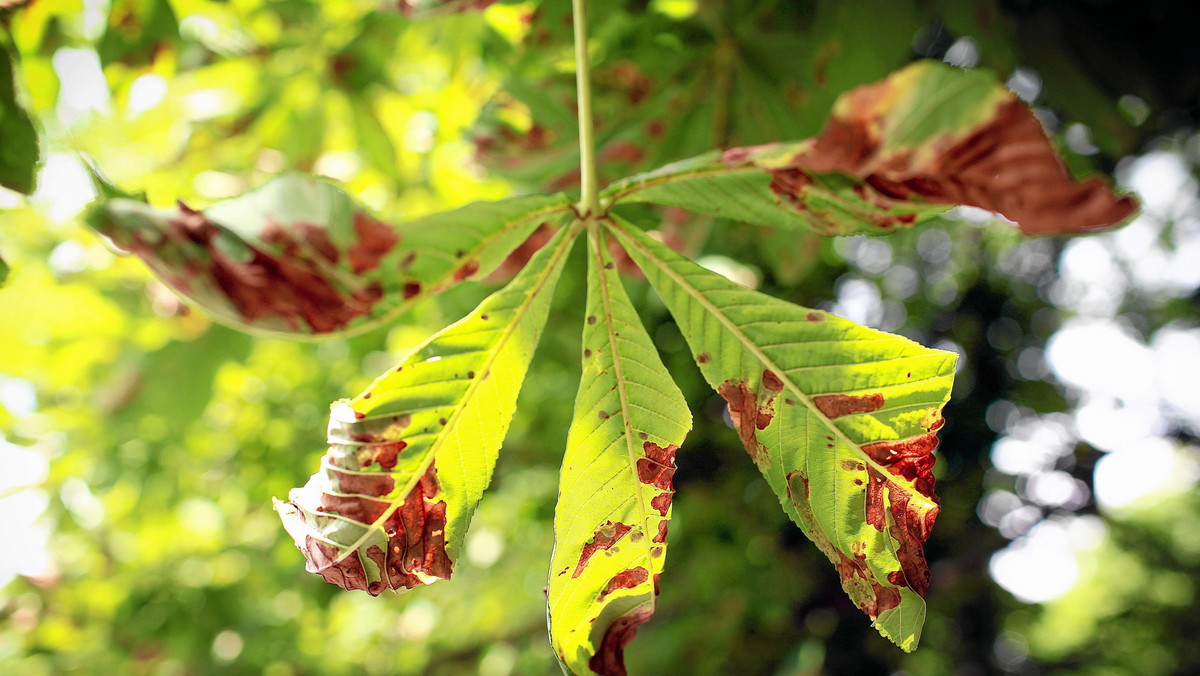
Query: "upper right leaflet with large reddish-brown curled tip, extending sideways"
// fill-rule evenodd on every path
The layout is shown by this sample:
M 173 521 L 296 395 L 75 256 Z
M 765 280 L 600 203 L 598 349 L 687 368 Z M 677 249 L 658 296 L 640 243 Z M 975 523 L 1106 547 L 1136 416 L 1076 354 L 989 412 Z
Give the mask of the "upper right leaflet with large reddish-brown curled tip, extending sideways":
M 887 232 L 958 204 L 1027 234 L 1106 228 L 1136 210 L 1099 179 L 1074 180 L 1028 107 L 990 76 L 935 61 L 842 95 L 816 138 L 709 152 L 604 196 L 822 234 Z

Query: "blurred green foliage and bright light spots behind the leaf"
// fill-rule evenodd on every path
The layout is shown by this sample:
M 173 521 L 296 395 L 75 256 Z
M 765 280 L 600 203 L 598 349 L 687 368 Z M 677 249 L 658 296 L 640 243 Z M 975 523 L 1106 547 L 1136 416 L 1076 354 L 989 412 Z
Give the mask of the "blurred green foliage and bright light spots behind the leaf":
M 577 190 L 569 4 L 479 5 L 0 8 L 43 157 L 31 196 L 0 189 L 0 672 L 558 671 L 541 588 L 582 258 L 454 580 L 371 598 L 304 572 L 271 497 L 316 471 L 330 401 L 492 287 L 461 285 L 352 340 L 256 339 L 79 222 L 94 196 L 80 152 L 160 205 L 203 208 L 286 169 L 391 220 Z M 811 136 L 836 95 L 934 58 L 996 73 L 1078 175 L 1108 174 L 1144 204 L 1126 228 L 1074 239 L 1026 239 L 970 209 L 836 240 L 631 213 L 743 283 L 961 358 L 929 618 L 905 654 L 786 520 L 661 303 L 628 280 L 696 417 L 630 671 L 1200 672 L 1194 5 L 624 0 L 592 13 L 606 179 Z

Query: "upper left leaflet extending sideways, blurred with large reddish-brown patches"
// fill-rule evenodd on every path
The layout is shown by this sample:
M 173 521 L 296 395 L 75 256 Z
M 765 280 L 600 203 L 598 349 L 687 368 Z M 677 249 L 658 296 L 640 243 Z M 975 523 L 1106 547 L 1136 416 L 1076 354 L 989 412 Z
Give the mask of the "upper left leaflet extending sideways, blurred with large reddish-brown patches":
M 286 174 L 204 211 L 108 198 L 88 221 L 217 319 L 301 337 L 359 333 L 482 277 L 568 213 L 564 195 L 528 196 L 389 225 L 329 183 Z

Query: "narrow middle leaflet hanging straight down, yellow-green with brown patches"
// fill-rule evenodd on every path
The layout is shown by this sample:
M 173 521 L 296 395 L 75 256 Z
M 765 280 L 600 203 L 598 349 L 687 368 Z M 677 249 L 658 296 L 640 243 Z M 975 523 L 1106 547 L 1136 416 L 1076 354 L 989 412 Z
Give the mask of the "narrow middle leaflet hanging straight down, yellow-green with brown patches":
M 583 376 L 546 597 L 551 642 L 574 674 L 624 674 L 625 645 L 654 615 L 674 455 L 691 429 L 601 238 L 589 238 Z

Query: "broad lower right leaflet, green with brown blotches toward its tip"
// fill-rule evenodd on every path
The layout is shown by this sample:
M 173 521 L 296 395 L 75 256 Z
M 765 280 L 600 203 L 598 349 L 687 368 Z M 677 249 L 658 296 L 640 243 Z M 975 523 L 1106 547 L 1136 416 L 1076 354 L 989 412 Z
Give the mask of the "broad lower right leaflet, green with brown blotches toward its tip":
M 612 223 L 784 510 L 880 633 L 916 648 L 955 355 L 750 291 Z

